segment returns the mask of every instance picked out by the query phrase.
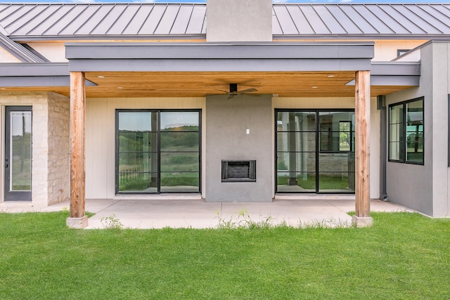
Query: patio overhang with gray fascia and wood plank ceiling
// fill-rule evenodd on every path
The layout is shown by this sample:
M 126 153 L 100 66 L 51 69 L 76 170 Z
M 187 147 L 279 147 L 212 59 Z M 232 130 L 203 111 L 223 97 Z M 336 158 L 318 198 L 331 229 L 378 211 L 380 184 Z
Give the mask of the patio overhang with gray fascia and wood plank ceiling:
M 281 97 L 337 97 L 354 96 L 355 71 L 373 69 L 377 96 L 417 86 L 420 74 L 418 63 L 371 63 L 372 43 L 80 43 L 67 51 L 65 64 L 0 64 L 0 87 L 69 96 L 69 72 L 85 72 L 94 98 L 204 97 L 230 83 Z

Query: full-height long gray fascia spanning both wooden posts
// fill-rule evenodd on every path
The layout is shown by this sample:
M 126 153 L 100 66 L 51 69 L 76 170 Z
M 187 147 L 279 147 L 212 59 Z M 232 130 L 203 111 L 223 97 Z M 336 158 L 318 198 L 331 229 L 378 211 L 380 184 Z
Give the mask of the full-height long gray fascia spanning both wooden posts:
M 70 43 L 73 72 L 370 70 L 373 43 Z

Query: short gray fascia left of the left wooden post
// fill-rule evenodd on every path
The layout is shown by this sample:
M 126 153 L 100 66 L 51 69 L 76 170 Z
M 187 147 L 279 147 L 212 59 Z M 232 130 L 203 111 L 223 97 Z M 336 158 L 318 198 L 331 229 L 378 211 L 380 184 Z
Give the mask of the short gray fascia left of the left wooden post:
M 70 86 L 68 63 L 0 63 L 0 86 Z M 86 80 L 86 86 L 96 86 Z

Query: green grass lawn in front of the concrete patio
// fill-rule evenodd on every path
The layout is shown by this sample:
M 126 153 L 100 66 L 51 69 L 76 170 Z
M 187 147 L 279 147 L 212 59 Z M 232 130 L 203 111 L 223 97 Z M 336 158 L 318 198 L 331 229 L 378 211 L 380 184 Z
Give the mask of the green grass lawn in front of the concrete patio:
M 0 299 L 450 299 L 450 220 L 373 228 L 74 230 L 0 214 Z

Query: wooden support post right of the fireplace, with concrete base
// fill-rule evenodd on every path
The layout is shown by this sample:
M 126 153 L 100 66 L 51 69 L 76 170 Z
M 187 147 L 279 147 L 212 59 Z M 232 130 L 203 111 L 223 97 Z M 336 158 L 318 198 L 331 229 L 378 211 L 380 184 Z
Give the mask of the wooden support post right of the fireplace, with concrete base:
M 369 195 L 369 159 L 371 133 L 371 72 L 358 71 L 355 74 L 355 115 L 356 115 L 356 216 L 357 226 L 371 226 Z

